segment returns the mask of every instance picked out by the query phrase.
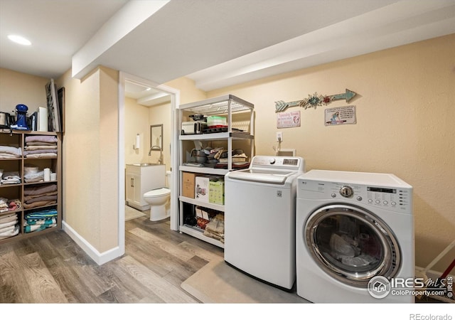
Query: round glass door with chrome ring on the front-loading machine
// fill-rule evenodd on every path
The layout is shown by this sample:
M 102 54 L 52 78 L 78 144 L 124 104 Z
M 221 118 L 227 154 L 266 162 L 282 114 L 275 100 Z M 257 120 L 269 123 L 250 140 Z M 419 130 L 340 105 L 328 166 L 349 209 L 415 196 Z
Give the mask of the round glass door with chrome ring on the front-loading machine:
M 400 269 L 400 247 L 392 230 L 363 208 L 323 206 L 310 215 L 304 233 L 316 263 L 350 286 L 367 287 L 371 278 L 393 277 Z

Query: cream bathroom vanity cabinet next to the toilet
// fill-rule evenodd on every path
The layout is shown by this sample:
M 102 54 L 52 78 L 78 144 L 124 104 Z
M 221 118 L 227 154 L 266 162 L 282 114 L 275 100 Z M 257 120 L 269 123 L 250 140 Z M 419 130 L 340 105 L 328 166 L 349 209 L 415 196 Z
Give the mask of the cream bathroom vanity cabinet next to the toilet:
M 164 164 L 127 164 L 125 172 L 125 193 L 127 206 L 137 210 L 149 210 L 150 205 L 144 200 L 144 193 L 166 184 L 166 166 Z

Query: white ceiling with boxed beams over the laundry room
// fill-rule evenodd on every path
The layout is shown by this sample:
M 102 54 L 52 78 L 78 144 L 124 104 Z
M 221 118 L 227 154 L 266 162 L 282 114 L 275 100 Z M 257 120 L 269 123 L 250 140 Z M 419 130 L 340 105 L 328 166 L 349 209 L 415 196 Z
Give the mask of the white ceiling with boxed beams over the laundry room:
M 455 0 L 0 0 L 0 67 L 213 90 L 450 33 Z

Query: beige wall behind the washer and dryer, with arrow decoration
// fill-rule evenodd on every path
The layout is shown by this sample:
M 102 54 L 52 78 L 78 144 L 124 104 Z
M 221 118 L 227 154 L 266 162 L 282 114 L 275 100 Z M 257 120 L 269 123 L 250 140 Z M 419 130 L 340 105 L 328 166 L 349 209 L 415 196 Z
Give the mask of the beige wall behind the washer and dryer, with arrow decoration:
M 295 148 L 306 169 L 384 172 L 414 187 L 416 265 L 426 267 L 455 239 L 455 35 L 382 50 L 208 92 L 255 104 L 256 154 Z M 358 93 L 349 104 L 301 111 L 301 127 L 277 129 L 274 102 L 309 94 Z M 326 127 L 324 109 L 355 105 L 357 124 Z M 433 269 L 444 271 L 449 252 Z

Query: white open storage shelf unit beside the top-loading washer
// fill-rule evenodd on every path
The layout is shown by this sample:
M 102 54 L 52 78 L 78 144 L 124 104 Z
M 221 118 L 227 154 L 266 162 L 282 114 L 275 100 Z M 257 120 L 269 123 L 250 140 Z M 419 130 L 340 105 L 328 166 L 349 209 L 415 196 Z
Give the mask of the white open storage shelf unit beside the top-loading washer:
M 187 150 L 183 150 L 183 142 L 198 142 L 198 141 L 220 141 L 227 142 L 228 150 L 232 150 L 233 141 L 250 141 L 250 157 L 253 156 L 254 152 L 254 105 L 252 103 L 242 100 L 234 95 L 225 95 L 223 97 L 215 97 L 200 102 L 192 102 L 186 105 L 181 105 L 178 110 L 178 122 L 181 124 L 183 121 L 187 121 L 188 114 L 204 114 L 205 116 L 223 114 L 227 119 L 227 132 L 215 132 L 215 133 L 204 133 L 204 134 L 181 134 L 178 137 L 180 142 L 180 184 L 182 184 L 182 172 L 193 172 L 198 174 L 212 174 L 217 176 L 224 176 L 232 170 L 232 154 L 228 152 L 228 169 L 215 169 L 204 166 L 188 166 L 183 161 L 183 156 Z M 232 128 L 232 114 L 241 114 L 241 117 L 247 119 L 246 127 L 242 130 L 238 128 Z M 180 192 L 182 188 L 179 188 Z M 215 203 L 207 203 L 199 201 L 198 199 L 188 198 L 179 196 L 180 202 L 180 223 L 179 230 L 181 233 L 192 235 L 195 238 L 204 240 L 218 247 L 224 247 L 224 243 L 209 238 L 203 234 L 203 230 L 191 225 L 185 225 L 183 223 L 183 203 L 189 203 L 195 206 L 202 206 L 204 208 L 210 208 L 224 212 L 225 207 L 223 205 Z

